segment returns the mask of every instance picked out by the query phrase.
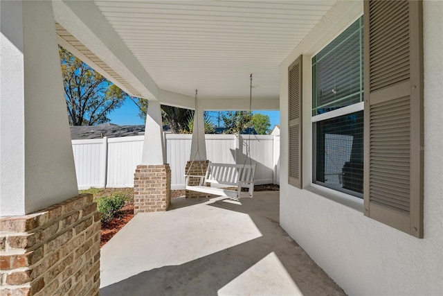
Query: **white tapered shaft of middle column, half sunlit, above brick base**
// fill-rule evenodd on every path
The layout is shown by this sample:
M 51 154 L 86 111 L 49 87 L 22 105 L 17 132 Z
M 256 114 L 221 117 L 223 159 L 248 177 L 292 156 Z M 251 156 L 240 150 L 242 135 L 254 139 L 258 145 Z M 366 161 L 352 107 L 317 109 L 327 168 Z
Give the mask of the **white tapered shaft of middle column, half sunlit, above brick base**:
M 165 164 L 165 143 L 161 122 L 161 106 L 158 101 L 150 101 L 147 107 L 145 140 L 141 164 Z

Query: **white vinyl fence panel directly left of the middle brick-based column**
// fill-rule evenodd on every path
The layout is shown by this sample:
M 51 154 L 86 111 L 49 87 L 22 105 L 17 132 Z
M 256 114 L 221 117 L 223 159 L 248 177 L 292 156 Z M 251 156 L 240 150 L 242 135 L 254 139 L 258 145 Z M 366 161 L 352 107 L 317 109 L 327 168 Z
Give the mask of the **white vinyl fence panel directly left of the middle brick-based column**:
M 132 187 L 141 164 L 144 136 L 108 139 L 107 186 Z

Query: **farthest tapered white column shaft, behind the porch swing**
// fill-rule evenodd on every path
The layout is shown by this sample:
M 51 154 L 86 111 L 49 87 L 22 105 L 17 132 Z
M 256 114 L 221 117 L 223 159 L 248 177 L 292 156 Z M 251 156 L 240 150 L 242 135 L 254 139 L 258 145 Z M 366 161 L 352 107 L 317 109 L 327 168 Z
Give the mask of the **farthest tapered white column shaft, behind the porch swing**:
M 199 109 L 197 104 L 194 113 L 194 124 L 192 125 L 192 142 L 190 161 L 206 161 L 206 140 L 205 140 L 205 123 L 203 110 Z

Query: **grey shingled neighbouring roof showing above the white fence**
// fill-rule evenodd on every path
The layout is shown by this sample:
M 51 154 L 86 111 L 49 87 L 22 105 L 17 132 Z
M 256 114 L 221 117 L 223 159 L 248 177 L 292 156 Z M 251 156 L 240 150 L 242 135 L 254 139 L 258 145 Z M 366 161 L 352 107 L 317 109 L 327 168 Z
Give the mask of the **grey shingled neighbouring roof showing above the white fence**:
M 100 125 L 71 126 L 71 139 L 101 139 L 102 137 L 138 136 L 145 132 L 145 125 L 116 125 L 104 123 Z

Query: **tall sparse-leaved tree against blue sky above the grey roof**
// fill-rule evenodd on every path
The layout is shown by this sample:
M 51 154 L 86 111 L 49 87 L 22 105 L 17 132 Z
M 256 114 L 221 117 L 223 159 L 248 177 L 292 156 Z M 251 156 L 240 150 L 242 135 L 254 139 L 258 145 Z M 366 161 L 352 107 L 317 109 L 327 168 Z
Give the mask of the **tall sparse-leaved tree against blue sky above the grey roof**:
M 59 46 L 69 124 L 98 125 L 123 105 L 127 94 Z

